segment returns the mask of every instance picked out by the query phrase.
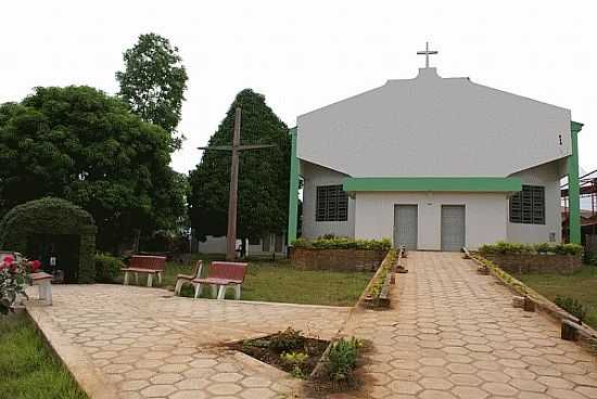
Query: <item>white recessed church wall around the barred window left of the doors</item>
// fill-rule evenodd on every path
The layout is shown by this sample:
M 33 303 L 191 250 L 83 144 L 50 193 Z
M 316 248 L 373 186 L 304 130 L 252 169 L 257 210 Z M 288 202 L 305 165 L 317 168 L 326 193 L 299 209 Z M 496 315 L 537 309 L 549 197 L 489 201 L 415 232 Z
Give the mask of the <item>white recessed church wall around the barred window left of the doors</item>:
M 338 236 L 355 235 L 355 201 L 348 197 L 347 221 L 316 221 L 316 197 L 318 185 L 342 184 L 346 175 L 323 168 L 306 162 L 301 162 L 301 175 L 304 179 L 303 186 L 303 236 L 316 239 L 325 234 Z

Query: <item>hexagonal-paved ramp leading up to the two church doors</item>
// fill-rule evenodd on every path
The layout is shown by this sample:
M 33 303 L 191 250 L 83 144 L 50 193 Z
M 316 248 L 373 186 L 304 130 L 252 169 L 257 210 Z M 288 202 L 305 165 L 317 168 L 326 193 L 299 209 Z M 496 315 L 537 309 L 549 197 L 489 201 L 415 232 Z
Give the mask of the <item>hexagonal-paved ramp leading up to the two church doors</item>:
M 354 397 L 597 398 L 596 358 L 547 317 L 513 308 L 472 261 L 423 252 L 407 261 L 394 309 L 355 312 L 343 332 L 373 343 Z

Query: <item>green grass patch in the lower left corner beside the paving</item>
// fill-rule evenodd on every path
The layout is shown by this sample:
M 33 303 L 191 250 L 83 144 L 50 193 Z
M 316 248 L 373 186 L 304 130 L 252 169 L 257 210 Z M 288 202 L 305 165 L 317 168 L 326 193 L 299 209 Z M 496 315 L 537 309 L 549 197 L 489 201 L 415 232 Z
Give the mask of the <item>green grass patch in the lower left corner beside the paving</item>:
M 85 399 L 24 314 L 0 317 L 0 399 Z

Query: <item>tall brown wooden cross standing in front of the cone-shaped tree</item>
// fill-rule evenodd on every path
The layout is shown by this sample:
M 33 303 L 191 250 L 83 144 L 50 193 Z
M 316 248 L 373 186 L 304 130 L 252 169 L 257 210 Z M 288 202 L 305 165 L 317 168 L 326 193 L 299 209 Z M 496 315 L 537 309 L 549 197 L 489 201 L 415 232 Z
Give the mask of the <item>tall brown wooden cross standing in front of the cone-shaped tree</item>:
M 229 151 L 232 153 L 230 165 L 230 195 L 228 198 L 228 232 L 226 234 L 226 260 L 232 261 L 237 257 L 237 206 L 239 200 L 239 153 L 247 150 L 272 147 L 274 144 L 241 145 L 241 107 L 237 106 L 234 113 L 234 133 L 232 145 L 200 146 L 205 151 Z

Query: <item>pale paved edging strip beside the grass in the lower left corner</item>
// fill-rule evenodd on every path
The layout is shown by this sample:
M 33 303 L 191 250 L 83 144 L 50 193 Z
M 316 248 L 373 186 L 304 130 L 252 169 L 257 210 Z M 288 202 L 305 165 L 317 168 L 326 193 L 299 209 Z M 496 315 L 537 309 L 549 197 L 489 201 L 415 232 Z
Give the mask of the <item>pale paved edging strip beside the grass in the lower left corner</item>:
M 54 329 L 50 317 L 39 306 L 28 301 L 25 308 L 49 347 L 89 398 L 114 399 L 117 397 L 113 384 L 103 377 L 85 351 L 71 344 L 61 331 Z

